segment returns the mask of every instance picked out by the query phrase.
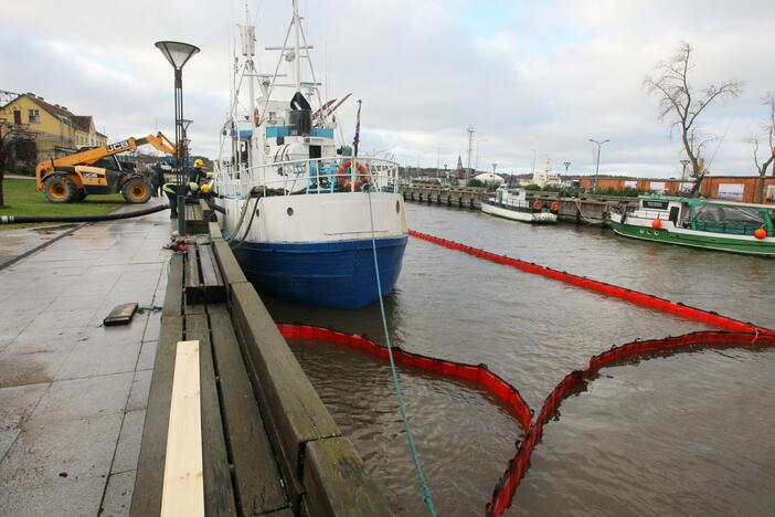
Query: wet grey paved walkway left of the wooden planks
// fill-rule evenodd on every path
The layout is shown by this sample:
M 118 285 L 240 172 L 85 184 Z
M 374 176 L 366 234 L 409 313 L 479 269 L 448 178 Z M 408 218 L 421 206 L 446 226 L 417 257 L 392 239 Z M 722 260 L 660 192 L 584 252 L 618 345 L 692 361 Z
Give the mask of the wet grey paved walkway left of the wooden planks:
M 128 515 L 159 313 L 162 211 L 89 224 L 0 271 L 0 515 Z

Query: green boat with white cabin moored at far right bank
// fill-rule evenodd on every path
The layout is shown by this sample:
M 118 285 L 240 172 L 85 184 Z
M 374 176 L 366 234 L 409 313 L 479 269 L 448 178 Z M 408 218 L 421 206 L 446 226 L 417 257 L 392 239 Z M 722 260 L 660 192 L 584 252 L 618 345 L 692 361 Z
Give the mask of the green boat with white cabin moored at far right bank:
M 775 205 L 672 196 L 640 196 L 612 211 L 619 235 L 682 246 L 775 256 Z

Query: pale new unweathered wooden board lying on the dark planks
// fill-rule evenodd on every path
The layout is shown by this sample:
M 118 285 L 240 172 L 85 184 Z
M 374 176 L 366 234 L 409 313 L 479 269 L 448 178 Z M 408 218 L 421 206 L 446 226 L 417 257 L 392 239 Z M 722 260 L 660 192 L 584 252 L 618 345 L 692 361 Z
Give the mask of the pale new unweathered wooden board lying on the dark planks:
M 204 516 L 199 347 L 199 341 L 180 341 L 177 346 L 162 517 Z

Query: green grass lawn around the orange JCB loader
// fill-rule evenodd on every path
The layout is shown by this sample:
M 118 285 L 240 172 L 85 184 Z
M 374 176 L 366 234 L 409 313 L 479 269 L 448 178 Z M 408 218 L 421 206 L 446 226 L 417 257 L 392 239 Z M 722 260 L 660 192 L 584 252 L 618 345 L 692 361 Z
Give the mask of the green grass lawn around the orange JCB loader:
M 43 192 L 35 190 L 34 178 L 6 178 L 2 187 L 6 205 L 0 208 L 0 215 L 94 215 L 127 204 L 121 194 L 89 196 L 79 203 L 52 203 Z M 41 224 L 0 224 L 0 230 Z

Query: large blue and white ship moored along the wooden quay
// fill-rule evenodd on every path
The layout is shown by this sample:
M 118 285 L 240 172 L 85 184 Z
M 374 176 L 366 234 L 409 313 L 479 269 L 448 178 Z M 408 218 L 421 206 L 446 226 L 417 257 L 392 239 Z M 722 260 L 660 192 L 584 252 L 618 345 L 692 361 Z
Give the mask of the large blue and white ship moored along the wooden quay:
M 255 66 L 255 27 L 241 56 L 215 162 L 219 224 L 259 291 L 310 305 L 358 308 L 395 285 L 407 241 L 397 163 L 359 156 L 316 80 L 298 1 L 269 73 Z M 274 60 L 273 60 L 274 61 Z M 290 77 L 290 81 L 286 77 Z M 375 266 L 374 254 L 376 255 Z

